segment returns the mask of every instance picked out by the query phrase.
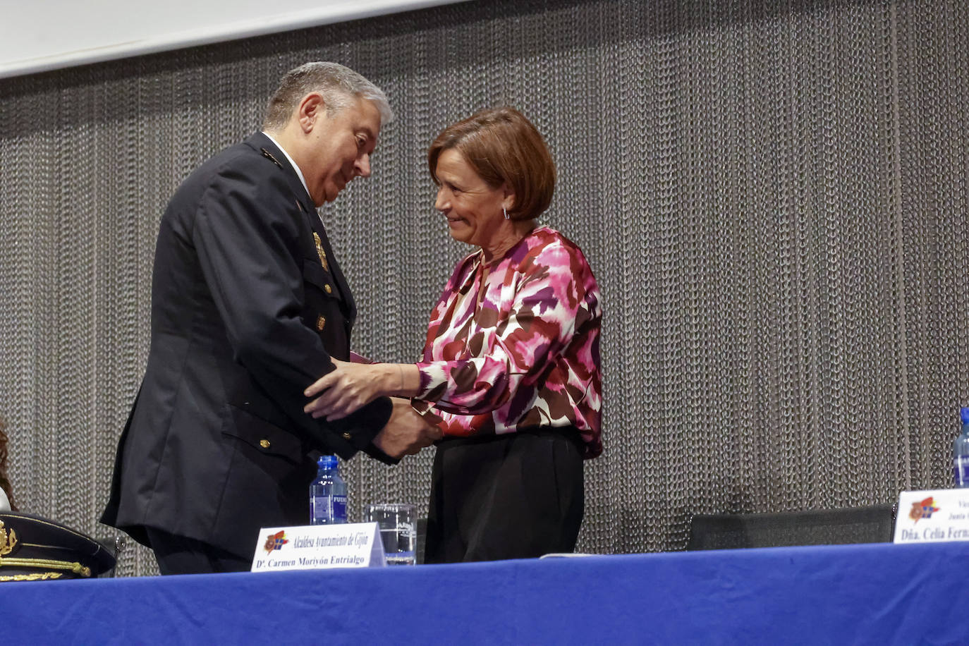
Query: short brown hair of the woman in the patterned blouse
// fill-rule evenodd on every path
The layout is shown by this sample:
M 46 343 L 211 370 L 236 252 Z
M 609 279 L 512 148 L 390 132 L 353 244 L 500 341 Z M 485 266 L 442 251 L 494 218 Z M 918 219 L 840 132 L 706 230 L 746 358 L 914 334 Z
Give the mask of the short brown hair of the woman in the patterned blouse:
M 427 168 L 437 179 L 441 153 L 457 150 L 493 189 L 508 184 L 515 203 L 513 220 L 530 220 L 548 208 L 555 191 L 555 163 L 545 139 L 515 108 L 492 108 L 445 128 L 427 150 Z

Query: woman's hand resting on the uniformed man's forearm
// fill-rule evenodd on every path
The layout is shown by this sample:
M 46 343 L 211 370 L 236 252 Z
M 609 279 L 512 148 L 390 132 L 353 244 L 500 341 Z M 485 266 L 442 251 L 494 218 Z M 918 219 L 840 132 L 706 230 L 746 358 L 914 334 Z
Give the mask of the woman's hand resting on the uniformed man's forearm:
M 389 364 L 330 360 L 336 369 L 303 390 L 307 397 L 323 393 L 303 407 L 304 413 L 314 418 L 326 416 L 327 419 L 340 419 L 387 394 L 384 382 Z

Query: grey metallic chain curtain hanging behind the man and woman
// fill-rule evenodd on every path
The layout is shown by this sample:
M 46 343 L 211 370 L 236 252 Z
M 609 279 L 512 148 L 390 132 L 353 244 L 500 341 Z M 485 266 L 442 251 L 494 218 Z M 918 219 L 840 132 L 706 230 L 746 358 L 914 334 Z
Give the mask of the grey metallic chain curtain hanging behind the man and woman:
M 100 538 L 185 175 L 307 60 L 383 86 L 374 175 L 322 216 L 355 346 L 412 361 L 456 261 L 424 153 L 511 104 L 559 184 L 543 220 L 603 292 L 605 454 L 578 550 L 682 549 L 703 512 L 948 486 L 969 403 L 962 0 L 503 0 L 0 81 L 0 416 L 20 508 Z M 344 464 L 426 511 L 433 449 Z M 131 546 L 118 572 L 157 571 Z

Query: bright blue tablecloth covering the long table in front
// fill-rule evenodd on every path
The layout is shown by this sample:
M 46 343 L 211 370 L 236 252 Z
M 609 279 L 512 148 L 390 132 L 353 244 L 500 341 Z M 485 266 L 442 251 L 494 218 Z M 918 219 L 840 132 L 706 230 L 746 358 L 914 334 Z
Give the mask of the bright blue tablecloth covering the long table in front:
M 5 644 L 969 643 L 969 542 L 0 584 Z

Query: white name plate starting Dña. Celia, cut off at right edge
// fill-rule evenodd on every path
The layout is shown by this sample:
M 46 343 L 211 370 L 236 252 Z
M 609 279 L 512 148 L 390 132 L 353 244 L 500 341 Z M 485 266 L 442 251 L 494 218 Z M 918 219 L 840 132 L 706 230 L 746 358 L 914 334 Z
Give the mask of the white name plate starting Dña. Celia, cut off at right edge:
M 894 542 L 969 540 L 969 489 L 903 491 Z

